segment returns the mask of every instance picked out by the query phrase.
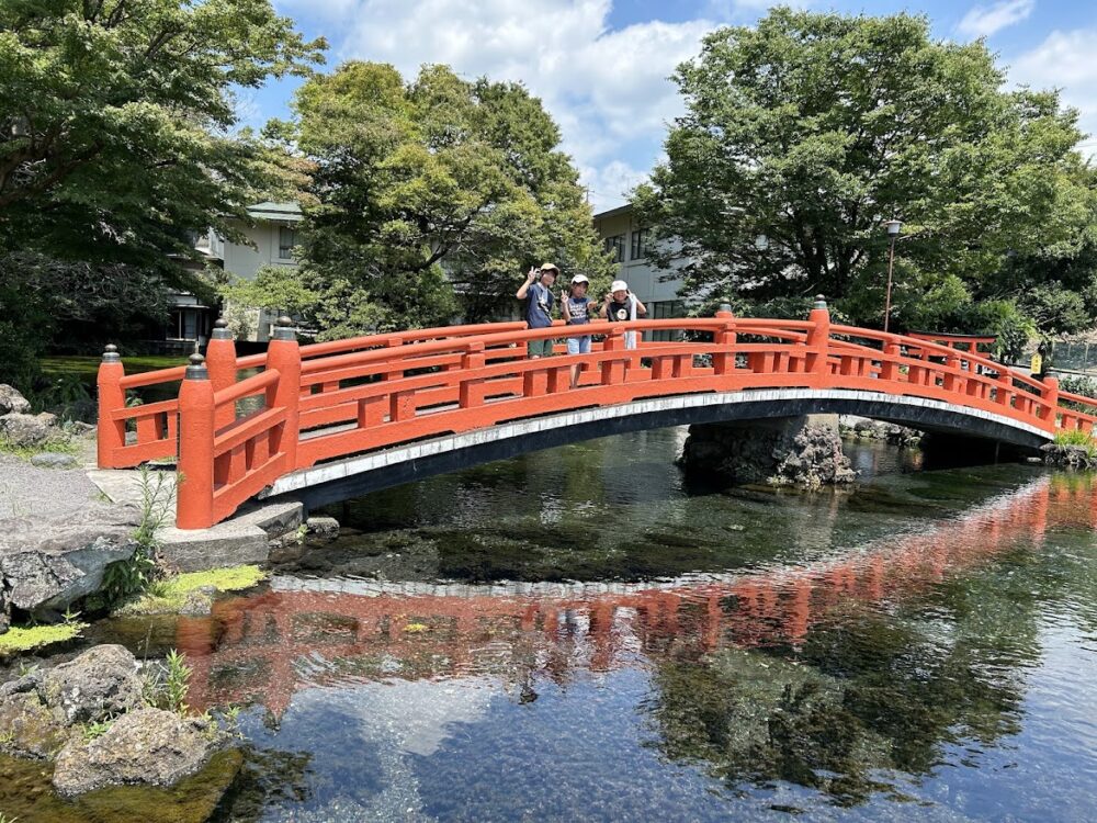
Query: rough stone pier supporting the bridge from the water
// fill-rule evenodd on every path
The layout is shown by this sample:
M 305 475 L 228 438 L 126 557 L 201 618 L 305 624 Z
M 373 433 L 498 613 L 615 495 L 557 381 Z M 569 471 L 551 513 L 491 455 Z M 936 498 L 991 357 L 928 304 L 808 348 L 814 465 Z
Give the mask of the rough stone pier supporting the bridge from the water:
M 837 415 L 690 426 L 679 464 L 737 484 L 821 488 L 856 480 Z

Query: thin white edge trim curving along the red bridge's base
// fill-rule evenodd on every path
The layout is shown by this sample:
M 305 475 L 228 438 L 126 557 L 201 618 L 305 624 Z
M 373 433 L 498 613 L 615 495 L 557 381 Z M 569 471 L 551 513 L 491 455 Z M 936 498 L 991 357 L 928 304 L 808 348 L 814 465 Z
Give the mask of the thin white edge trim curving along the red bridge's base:
M 968 417 L 977 417 L 1037 435 L 1045 440 L 1052 439 L 1043 429 L 1039 429 L 1027 422 L 1014 420 L 1004 415 L 984 412 L 979 408 L 969 408 L 968 406 L 958 406 L 942 401 L 927 399 L 925 397 L 908 397 L 883 392 L 849 391 L 842 388 L 759 388 L 737 392 L 710 392 L 706 394 L 675 395 L 671 397 L 651 397 L 648 399 L 622 403 L 613 406 L 597 406 L 576 412 L 545 415 L 544 417 L 529 417 L 512 422 L 498 424 L 487 429 L 476 429 L 474 431 L 463 431 L 460 435 L 444 435 L 430 440 L 420 440 L 407 446 L 346 458 L 338 462 L 323 463 L 310 469 L 298 469 L 295 472 L 279 477 L 268 489 L 261 492 L 259 497 L 283 495 L 302 488 L 317 486 L 321 483 L 351 477 L 363 472 L 372 472 L 385 466 L 443 454 L 472 446 L 480 446 L 496 440 L 535 435 L 559 426 L 612 420 L 618 417 L 631 417 L 632 415 L 642 415 L 651 412 L 725 406 L 737 403 L 802 399 L 863 401 L 869 403 L 884 401 L 897 406 L 915 406 L 918 408 L 966 415 Z

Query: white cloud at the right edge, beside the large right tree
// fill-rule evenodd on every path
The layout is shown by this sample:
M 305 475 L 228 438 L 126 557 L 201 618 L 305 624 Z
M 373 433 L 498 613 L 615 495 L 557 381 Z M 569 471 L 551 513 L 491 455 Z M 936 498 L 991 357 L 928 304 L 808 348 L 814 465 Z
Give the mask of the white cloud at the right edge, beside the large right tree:
M 1097 29 L 1055 31 L 1016 60 L 1009 78 L 1033 89 L 1062 90 L 1062 100 L 1081 114 L 1082 129 L 1097 135 L 1097 60 L 1093 57 Z M 1092 144 L 1093 137 L 1087 143 Z M 1090 149 L 1094 146 L 1090 145 Z M 1089 154 L 1097 154 L 1090 150 Z

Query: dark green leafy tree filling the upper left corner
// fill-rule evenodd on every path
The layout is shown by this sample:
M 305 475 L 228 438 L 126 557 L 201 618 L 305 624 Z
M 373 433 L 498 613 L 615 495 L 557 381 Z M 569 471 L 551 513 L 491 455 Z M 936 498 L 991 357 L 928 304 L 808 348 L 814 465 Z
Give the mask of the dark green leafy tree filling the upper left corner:
M 276 145 L 231 134 L 239 91 L 307 72 L 323 47 L 270 0 L 0 3 L 0 268 L 35 307 L 0 293 L 4 337 L 48 343 L 70 318 L 116 336 L 168 286 L 201 289 L 180 266 L 192 233 L 242 239 L 246 206 L 299 178 Z M 33 358 L 5 375 L 27 385 Z

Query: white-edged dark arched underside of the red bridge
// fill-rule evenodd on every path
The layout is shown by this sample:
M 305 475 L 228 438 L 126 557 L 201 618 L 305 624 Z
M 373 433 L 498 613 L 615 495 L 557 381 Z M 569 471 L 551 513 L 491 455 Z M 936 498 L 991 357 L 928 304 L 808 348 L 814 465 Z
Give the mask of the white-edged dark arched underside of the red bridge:
M 350 456 L 287 474 L 261 496 L 292 496 L 306 508 L 316 508 L 436 474 L 610 435 L 812 414 L 871 417 L 1021 449 L 1036 450 L 1051 440 L 1040 429 L 1005 416 L 920 397 L 811 388 L 692 394 L 513 420 Z

